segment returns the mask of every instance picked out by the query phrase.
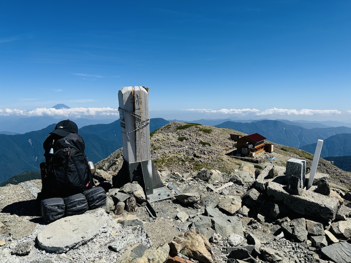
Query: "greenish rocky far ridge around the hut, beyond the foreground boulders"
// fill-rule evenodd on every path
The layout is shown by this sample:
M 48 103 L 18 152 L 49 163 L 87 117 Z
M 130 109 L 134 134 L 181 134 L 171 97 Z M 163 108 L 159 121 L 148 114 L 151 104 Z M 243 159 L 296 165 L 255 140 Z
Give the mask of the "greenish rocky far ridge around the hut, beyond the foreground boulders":
M 151 158 L 159 170 L 189 173 L 207 168 L 230 174 L 242 162 L 246 163 L 245 160 L 230 156 L 231 151 L 236 149 L 236 143 L 230 140 L 230 134 L 246 135 L 232 129 L 173 121 L 151 133 Z M 311 167 L 313 154 L 275 144 L 274 138 L 267 138 L 265 142 L 274 144 L 274 152 L 260 153 L 253 158 L 260 163 L 268 162 L 269 157 L 274 156 L 276 159 L 270 162 L 272 164 L 285 166 L 287 160 L 296 158 L 306 160 L 306 166 Z M 118 149 L 98 162 L 96 167 L 114 175 L 121 168 L 122 162 L 123 150 Z M 322 158 L 319 159 L 317 171 L 331 175 L 330 180 L 340 187 L 351 189 L 351 172 L 343 171 Z

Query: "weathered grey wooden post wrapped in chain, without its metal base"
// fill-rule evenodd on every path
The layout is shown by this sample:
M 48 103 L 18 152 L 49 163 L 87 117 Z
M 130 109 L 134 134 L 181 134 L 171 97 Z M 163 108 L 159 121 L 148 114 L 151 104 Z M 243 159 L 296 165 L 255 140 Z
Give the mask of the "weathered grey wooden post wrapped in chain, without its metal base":
M 118 92 L 124 159 L 151 160 L 148 88 L 123 87 Z

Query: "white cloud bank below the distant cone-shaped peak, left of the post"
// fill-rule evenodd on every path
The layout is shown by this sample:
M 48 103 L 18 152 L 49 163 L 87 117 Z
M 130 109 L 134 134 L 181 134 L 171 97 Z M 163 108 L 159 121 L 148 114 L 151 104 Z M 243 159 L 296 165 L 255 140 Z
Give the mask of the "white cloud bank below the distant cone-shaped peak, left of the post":
M 87 116 L 119 116 L 118 109 L 107 108 L 71 108 L 71 109 L 55 109 L 55 108 L 37 108 L 33 110 L 20 109 L 0 109 L 0 116 L 50 116 L 50 117 L 66 117 L 81 118 Z

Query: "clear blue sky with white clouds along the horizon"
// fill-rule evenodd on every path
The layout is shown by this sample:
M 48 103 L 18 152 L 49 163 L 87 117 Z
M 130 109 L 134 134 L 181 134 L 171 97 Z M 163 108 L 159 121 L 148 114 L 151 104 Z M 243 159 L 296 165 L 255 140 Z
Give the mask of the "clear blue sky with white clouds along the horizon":
M 351 122 L 350 1 L 1 1 L 0 116 Z M 74 115 L 75 114 L 75 115 Z

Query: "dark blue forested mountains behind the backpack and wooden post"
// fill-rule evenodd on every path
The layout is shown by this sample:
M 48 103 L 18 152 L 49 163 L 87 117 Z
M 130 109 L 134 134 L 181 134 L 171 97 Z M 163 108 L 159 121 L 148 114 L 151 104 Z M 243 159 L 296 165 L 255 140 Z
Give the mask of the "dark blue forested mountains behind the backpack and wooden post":
M 168 121 L 155 118 L 150 121 L 150 131 L 160 128 Z M 42 147 L 45 137 L 55 129 L 56 123 L 44 129 L 25 134 L 0 134 L 0 182 L 32 170 L 39 171 L 44 159 Z M 120 121 L 110 124 L 95 124 L 82 127 L 79 134 L 85 141 L 85 154 L 94 163 L 101 161 L 122 147 Z

